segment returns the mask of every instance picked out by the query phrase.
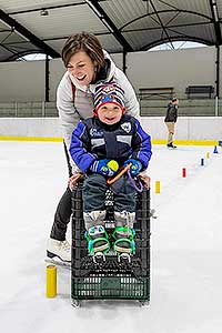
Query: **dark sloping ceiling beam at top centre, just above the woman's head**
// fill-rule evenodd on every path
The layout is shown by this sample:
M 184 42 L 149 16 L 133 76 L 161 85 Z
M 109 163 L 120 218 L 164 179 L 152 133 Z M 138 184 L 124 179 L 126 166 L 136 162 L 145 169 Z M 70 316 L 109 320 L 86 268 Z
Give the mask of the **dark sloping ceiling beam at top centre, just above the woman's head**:
M 125 52 L 133 52 L 133 48 L 129 44 L 125 38 L 122 36 L 117 26 L 112 22 L 102 7 L 98 3 L 98 0 L 85 0 L 89 7 L 93 10 L 97 17 L 101 20 L 101 22 L 112 32 L 119 43 L 123 47 Z

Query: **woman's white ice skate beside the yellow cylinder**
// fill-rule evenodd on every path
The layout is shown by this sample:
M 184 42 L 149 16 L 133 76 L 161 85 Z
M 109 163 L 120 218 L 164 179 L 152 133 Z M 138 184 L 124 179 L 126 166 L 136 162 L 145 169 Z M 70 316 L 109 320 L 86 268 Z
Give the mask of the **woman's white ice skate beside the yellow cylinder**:
M 67 240 L 58 241 L 49 239 L 47 248 L 47 258 L 50 260 L 59 259 L 61 262 L 71 262 L 71 246 Z

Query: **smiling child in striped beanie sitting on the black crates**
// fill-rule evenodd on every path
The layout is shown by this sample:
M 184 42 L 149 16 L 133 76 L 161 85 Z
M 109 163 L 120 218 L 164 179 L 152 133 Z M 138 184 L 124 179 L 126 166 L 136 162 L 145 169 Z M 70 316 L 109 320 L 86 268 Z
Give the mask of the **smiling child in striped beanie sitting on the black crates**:
M 110 250 L 104 228 L 107 179 L 118 165 L 131 163 L 130 173 L 139 174 L 151 158 L 150 135 L 140 122 L 124 114 L 124 92 L 117 83 L 99 84 L 94 91 L 94 115 L 78 123 L 72 133 L 70 154 L 87 174 L 83 183 L 83 219 L 90 254 L 103 255 Z M 114 161 L 113 161 L 114 160 Z M 118 163 L 117 163 L 118 162 Z M 135 193 L 128 176 L 119 193 L 113 194 L 118 256 L 134 252 Z M 104 259 L 104 255 L 103 255 Z

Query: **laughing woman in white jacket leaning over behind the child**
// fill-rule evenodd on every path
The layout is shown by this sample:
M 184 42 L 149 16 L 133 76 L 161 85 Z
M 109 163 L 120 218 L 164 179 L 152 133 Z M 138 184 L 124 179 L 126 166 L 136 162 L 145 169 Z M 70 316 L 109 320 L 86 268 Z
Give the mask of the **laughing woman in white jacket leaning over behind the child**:
M 80 119 L 92 117 L 93 93 L 99 82 L 115 81 L 124 90 L 125 112 L 139 118 L 139 103 L 125 74 L 115 67 L 109 54 L 102 50 L 99 40 L 90 33 L 71 36 L 63 49 L 62 60 L 67 68 L 57 92 L 57 108 L 63 130 L 65 147 L 69 150 L 72 131 Z M 70 186 L 79 178 L 77 165 L 72 164 Z M 62 195 L 48 242 L 48 258 L 71 261 L 70 244 L 65 240 L 67 226 L 71 216 L 71 190 L 68 186 Z

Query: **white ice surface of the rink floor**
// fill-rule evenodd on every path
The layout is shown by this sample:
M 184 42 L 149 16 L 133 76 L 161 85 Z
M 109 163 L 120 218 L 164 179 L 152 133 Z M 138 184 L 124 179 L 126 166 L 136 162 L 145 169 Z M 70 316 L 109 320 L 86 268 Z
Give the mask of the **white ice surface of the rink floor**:
M 213 149 L 153 145 L 150 306 L 104 301 L 74 309 L 61 268 L 58 296 L 46 297 L 47 239 L 68 179 L 62 143 L 0 141 L 1 332 L 220 333 L 222 151 Z

